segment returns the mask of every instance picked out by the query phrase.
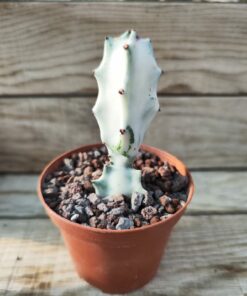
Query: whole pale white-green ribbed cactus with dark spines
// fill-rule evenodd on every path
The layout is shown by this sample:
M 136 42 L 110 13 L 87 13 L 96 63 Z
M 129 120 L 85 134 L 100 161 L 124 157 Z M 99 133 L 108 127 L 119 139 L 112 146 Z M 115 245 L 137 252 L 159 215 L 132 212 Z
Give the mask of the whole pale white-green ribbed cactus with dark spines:
M 103 59 L 94 71 L 99 91 L 93 113 L 111 161 L 93 182 L 100 196 L 145 192 L 132 163 L 159 110 L 156 89 L 161 73 L 149 39 L 133 30 L 106 37 Z

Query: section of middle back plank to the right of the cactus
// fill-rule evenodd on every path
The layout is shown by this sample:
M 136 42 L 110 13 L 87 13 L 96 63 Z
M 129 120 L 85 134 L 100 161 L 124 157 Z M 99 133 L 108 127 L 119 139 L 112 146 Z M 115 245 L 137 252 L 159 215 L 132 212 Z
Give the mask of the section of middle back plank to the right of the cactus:
M 191 168 L 246 167 L 247 97 L 163 97 L 145 142 Z

